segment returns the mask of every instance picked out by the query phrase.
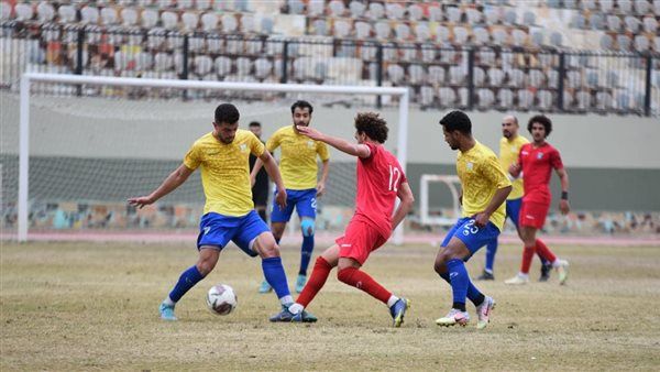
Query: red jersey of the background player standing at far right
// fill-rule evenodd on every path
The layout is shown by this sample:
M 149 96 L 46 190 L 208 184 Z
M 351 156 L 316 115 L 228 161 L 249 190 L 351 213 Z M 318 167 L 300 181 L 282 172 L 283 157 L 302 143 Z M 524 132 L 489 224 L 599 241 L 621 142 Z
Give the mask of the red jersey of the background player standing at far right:
M 552 169 L 563 168 L 559 151 L 549 143 L 540 147 L 535 147 L 534 143 L 526 143 L 520 147 L 518 164 L 522 166 L 522 201 L 550 205 Z

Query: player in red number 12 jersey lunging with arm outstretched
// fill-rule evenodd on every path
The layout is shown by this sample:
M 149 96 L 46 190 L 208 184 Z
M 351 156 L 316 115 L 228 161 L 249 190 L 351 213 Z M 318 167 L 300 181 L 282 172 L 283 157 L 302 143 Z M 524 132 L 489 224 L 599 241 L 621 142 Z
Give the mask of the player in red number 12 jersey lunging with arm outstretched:
M 349 155 L 358 157 L 358 197 L 355 214 L 344 236 L 327 249 L 317 260 L 309 281 L 296 303 L 283 309 L 273 321 L 308 321 L 302 311 L 323 287 L 332 267 L 338 267 L 338 278 L 366 292 L 389 307 L 394 327 L 404 322 L 408 300 L 397 297 L 369 274 L 361 271 L 371 252 L 383 245 L 392 231 L 410 210 L 415 198 L 408 180 L 396 157 L 383 146 L 387 140 L 387 123 L 377 113 L 359 113 L 355 118 L 355 140 L 323 134 L 310 127 L 298 131 L 312 140 L 322 141 Z M 393 215 L 396 198 L 399 206 Z

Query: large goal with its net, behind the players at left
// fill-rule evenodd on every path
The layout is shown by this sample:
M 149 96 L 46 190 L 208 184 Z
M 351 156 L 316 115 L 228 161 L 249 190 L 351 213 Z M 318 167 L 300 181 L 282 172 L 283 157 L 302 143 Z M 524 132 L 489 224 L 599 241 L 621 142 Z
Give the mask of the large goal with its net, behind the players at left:
M 212 130 L 213 110 L 223 101 L 239 107 L 241 128 L 262 122 L 264 141 L 292 123 L 297 99 L 315 106 L 312 125 L 351 139 L 355 112 L 374 110 L 381 97 L 389 103 L 382 112 L 393 131 L 386 146 L 406 164 L 406 88 L 28 73 L 20 95 L 0 97 L 3 239 L 189 239 L 204 207 L 199 172 L 153 206 L 135 209 L 127 198 L 157 187 Z M 355 160 L 333 151 L 330 169 L 319 231 L 343 229 L 354 206 Z M 395 242 L 403 238 L 399 229 Z

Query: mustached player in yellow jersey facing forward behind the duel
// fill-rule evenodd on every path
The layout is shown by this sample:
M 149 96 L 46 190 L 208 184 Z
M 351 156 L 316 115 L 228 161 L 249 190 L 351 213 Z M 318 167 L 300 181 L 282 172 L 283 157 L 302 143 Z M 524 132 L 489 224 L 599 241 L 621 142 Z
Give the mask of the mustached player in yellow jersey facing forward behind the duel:
M 273 204 L 273 210 L 271 211 L 271 229 L 277 243 L 282 239 L 286 223 L 292 218 L 294 207 L 300 218 L 302 247 L 300 248 L 300 270 L 296 280 L 297 293 L 302 291 L 307 282 L 307 267 L 314 251 L 316 198 L 326 190 L 330 160 L 326 143 L 302 135 L 296 129 L 296 125 L 309 125 L 312 111 L 314 108 L 309 102 L 296 101 L 292 106 L 293 124 L 278 129 L 266 142 L 266 149 L 270 152 L 274 152 L 277 147 L 282 151 L 279 172 L 282 172 L 287 195 L 286 207 L 280 208 L 278 205 Z M 317 156 L 322 162 L 321 177 L 318 182 Z M 253 177 L 260 167 L 261 165 L 257 162 L 252 169 Z M 267 293 L 270 291 L 268 282 L 264 281 L 258 292 Z

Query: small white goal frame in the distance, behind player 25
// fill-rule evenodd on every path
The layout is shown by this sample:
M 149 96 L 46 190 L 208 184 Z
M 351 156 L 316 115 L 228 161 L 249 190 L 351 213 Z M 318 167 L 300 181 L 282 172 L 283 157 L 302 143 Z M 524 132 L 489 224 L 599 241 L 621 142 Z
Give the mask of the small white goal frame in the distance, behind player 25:
M 443 183 L 449 187 L 453 199 L 452 210 L 454 216 L 452 218 L 431 216 L 429 214 L 429 185 L 431 183 Z M 455 175 L 421 175 L 419 178 L 419 221 L 421 225 L 452 226 L 455 223 L 459 216 L 461 216 L 459 189 L 457 188 L 457 185 L 460 183 L 459 176 Z

